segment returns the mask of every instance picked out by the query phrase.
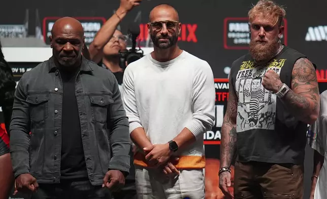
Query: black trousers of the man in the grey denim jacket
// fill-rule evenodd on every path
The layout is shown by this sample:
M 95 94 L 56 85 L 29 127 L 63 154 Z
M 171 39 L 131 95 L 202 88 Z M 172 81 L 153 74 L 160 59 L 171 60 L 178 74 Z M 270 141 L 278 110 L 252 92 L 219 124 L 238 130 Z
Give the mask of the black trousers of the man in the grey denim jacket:
M 90 181 L 63 181 L 60 184 L 39 184 L 31 199 L 110 199 L 110 190 L 93 186 Z

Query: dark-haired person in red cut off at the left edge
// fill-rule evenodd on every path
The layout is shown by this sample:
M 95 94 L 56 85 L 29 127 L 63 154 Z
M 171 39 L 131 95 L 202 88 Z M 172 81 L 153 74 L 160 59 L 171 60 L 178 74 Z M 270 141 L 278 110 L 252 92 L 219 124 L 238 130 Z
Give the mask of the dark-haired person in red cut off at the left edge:
M 5 60 L 0 43 L 0 107 L 5 119 L 5 129 L 0 127 L 0 199 L 8 198 L 14 182 L 9 150 L 9 125 L 15 98 L 15 87 L 16 82 L 12 70 Z

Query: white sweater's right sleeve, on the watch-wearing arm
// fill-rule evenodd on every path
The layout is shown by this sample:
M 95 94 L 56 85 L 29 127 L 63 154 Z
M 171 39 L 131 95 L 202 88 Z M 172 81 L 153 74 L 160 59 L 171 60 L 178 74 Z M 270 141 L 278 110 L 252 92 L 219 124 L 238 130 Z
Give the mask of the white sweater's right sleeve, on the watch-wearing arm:
M 211 130 L 215 115 L 215 86 L 211 67 L 208 62 L 201 63 L 194 73 L 192 94 L 192 119 L 186 123 L 196 139 Z

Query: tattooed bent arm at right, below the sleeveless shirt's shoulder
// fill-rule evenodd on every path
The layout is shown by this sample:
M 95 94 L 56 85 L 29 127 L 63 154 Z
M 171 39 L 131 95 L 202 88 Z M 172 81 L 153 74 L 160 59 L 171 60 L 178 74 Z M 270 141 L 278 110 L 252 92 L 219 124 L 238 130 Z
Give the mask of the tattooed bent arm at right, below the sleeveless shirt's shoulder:
M 301 121 L 311 123 L 312 115 L 319 112 L 319 89 L 316 71 L 307 58 L 300 58 L 294 64 L 291 90 L 282 99 L 283 103 Z

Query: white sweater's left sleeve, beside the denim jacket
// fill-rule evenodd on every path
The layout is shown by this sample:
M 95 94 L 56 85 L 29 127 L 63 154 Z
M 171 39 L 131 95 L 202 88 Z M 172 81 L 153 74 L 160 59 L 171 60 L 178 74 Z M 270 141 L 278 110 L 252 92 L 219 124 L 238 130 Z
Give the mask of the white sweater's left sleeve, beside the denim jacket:
M 136 128 L 142 127 L 136 104 L 133 73 L 126 68 L 123 77 L 123 106 L 129 121 L 129 134 Z

